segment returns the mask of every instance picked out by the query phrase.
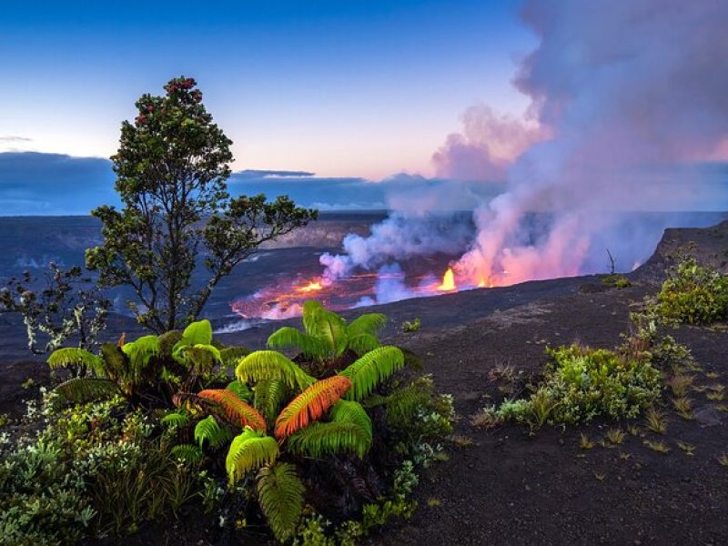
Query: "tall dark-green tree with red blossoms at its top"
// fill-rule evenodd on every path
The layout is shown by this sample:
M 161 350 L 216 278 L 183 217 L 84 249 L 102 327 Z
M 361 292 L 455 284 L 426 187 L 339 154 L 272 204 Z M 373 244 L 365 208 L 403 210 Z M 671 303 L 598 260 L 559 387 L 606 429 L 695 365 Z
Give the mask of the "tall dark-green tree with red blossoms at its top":
M 178 77 L 165 91 L 141 96 L 134 123 L 122 123 L 111 160 L 123 205 L 92 211 L 104 242 L 86 251 L 99 283 L 131 287 L 129 307 L 157 333 L 197 319 L 221 278 L 318 214 L 288 197 L 230 197 L 232 141 L 213 123 L 196 81 Z M 200 282 L 193 274 L 203 267 Z

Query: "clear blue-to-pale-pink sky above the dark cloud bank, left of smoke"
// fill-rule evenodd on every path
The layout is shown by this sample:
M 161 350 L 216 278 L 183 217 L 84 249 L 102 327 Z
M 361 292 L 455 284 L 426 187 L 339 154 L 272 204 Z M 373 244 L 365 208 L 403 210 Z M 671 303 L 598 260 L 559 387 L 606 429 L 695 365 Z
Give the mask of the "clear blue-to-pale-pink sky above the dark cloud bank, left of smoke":
M 109 157 L 145 92 L 194 76 L 235 170 L 430 177 L 469 106 L 519 114 L 513 0 L 5 0 L 0 152 Z

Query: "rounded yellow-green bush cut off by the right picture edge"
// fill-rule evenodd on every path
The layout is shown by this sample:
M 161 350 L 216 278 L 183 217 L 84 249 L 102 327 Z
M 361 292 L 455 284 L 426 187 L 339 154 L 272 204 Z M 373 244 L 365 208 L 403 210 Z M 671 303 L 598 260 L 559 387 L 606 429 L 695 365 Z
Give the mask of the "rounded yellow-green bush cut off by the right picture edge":
M 657 308 L 664 319 L 690 324 L 710 324 L 728 317 L 728 277 L 703 268 L 694 258 L 668 270 L 657 295 Z

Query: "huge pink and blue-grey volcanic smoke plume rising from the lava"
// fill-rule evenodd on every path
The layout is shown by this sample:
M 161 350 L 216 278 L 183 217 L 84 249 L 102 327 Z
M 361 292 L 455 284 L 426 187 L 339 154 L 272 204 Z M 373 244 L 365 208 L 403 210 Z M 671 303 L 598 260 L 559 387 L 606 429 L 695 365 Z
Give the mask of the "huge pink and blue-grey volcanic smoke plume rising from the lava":
M 413 209 L 394 193 L 389 218 L 322 256 L 311 286 L 376 274 L 359 303 L 383 303 L 603 272 L 606 248 L 625 270 L 668 223 L 700 223 L 664 213 L 725 207 L 725 171 L 708 167 L 728 159 L 728 2 L 531 0 L 521 15 L 540 40 L 513 80 L 531 106 L 470 107 L 433 156 L 451 195 L 458 180 L 505 191 L 465 219 L 440 194 Z M 440 282 L 404 283 L 399 262 L 443 252 L 456 258 Z

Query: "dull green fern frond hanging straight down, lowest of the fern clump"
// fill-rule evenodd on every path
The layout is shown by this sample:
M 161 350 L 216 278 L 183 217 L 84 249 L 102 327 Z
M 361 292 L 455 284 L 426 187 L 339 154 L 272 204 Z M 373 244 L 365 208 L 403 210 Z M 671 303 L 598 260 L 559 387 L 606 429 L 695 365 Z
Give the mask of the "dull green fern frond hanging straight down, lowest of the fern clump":
M 258 472 L 258 503 L 270 530 L 281 543 L 296 532 L 305 490 L 296 467 L 288 462 L 278 462 Z

